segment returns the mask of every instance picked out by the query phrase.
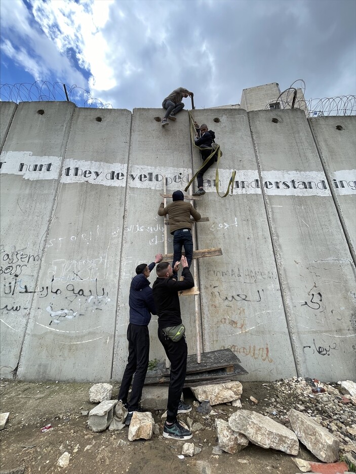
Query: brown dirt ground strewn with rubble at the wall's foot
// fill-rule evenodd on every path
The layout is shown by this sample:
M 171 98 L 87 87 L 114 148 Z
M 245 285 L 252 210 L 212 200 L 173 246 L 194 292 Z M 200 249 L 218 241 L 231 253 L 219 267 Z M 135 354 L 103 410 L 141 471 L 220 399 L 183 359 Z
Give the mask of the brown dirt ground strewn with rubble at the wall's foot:
M 193 438 L 189 442 L 198 448 L 193 457 L 180 459 L 184 443 L 162 437 L 162 411 L 152 413 L 160 433 L 147 441 L 128 441 L 128 428 L 93 433 L 85 414 L 94 407 L 88 396 L 91 385 L 2 379 L 1 412 L 10 412 L 10 416 L 1 432 L 1 473 L 295 474 L 301 471 L 294 458 L 318 461 L 301 443 L 297 456 L 251 443 L 238 454 L 221 452 L 217 448 L 215 419 L 227 421 L 241 409 L 229 403 L 214 405 L 210 414 L 200 414 L 193 407 L 190 413 L 179 415 L 192 426 Z M 315 383 L 302 378 L 244 382 L 242 408 L 267 415 L 287 427 L 291 408 L 306 413 L 339 439 L 340 460 L 346 460 L 348 469 L 356 472 L 352 466 L 356 457 L 355 400 L 341 393 L 338 384 L 316 385 L 326 392 L 313 394 Z M 112 398 L 117 389 L 114 385 Z M 194 402 L 188 389 L 184 390 L 184 398 L 185 402 Z M 49 424 L 51 429 L 42 432 Z M 57 462 L 64 452 L 70 454 L 69 464 L 60 467 Z

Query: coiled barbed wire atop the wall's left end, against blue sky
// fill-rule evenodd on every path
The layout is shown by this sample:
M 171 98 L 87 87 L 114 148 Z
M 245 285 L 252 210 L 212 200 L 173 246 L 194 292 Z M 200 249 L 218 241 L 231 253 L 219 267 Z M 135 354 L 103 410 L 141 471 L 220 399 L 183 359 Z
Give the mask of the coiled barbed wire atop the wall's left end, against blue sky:
M 74 84 L 67 88 L 62 82 L 52 83 L 47 80 L 36 80 L 32 84 L 29 82 L 0 84 L 0 99 L 16 103 L 69 100 L 77 107 L 112 108 L 111 104 L 96 99 L 89 91 L 78 85 Z

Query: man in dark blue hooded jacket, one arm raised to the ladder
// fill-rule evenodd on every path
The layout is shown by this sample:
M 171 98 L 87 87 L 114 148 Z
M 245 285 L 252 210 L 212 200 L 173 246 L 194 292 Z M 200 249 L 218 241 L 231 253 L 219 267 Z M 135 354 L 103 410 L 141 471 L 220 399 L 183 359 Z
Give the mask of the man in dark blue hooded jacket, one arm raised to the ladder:
M 133 412 L 138 410 L 146 378 L 149 359 L 148 323 L 151 320 L 151 314 L 157 314 L 148 277 L 155 264 L 161 262 L 161 260 L 162 253 L 157 253 L 154 262 L 151 264 L 138 265 L 136 267 L 136 276 L 131 281 L 129 296 L 130 323 L 127 328 L 129 357 L 121 382 L 120 392 L 117 396 L 118 400 L 121 400 L 126 405 L 129 412 L 125 419 L 126 425 L 130 424 Z M 131 398 L 128 401 L 127 397 L 134 374 Z

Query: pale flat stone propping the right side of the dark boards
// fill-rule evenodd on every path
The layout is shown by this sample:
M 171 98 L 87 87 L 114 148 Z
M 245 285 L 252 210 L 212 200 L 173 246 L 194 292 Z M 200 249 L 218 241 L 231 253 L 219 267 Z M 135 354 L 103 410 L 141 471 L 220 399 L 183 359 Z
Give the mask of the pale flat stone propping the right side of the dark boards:
M 242 384 L 237 381 L 225 382 L 190 387 L 190 390 L 200 402 L 209 400 L 210 405 L 217 405 L 239 399 L 242 394 Z

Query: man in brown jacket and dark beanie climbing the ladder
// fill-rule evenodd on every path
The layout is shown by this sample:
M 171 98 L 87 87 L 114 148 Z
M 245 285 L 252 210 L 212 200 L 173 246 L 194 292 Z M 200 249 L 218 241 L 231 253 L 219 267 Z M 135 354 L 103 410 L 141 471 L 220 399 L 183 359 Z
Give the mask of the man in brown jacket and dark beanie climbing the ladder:
M 166 207 L 164 207 L 164 203 L 161 202 L 158 215 L 167 216 L 167 214 L 169 214 L 169 231 L 173 235 L 174 252 L 172 268 L 182 257 L 182 246 L 184 246 L 189 268 L 193 260 L 193 239 L 191 236 L 190 216 L 193 217 L 194 221 L 199 221 L 201 215 L 190 203 L 184 202 L 182 191 L 174 191 L 172 199 L 173 202 Z

